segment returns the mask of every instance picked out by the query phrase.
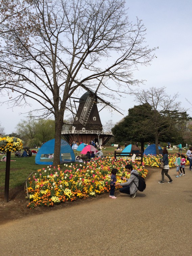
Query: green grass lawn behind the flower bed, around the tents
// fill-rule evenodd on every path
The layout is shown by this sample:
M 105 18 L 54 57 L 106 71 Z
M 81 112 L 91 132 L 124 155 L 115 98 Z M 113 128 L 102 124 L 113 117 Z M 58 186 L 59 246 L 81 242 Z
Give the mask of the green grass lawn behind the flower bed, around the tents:
M 123 147 L 124 148 L 124 147 Z M 114 155 L 114 150 L 116 147 L 106 146 L 106 149 L 103 149 L 102 152 L 104 156 L 108 154 Z M 183 153 L 186 154 L 186 150 L 183 150 Z M 80 152 L 74 150 L 75 155 L 79 155 Z M 178 153 L 178 150 L 169 150 L 169 154 Z M 0 155 L 0 158 L 3 155 Z M 37 165 L 35 164 L 35 155 L 32 157 L 15 157 L 15 154 L 11 154 L 11 161 L 10 162 L 10 180 L 9 180 L 9 187 L 15 188 L 22 184 L 26 178 L 31 174 L 31 172 L 36 172 L 38 169 L 42 169 L 43 167 L 47 167 L 46 165 Z M 4 183 L 5 183 L 5 165 L 6 162 L 0 162 L 0 190 L 4 190 Z M 62 167 L 62 165 L 61 165 Z

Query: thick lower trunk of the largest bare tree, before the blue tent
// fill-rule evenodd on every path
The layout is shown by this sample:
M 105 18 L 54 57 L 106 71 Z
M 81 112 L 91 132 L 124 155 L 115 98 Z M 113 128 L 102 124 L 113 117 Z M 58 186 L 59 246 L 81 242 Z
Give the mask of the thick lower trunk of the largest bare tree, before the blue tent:
M 61 133 L 63 127 L 63 116 L 62 113 L 59 113 L 55 117 L 55 148 L 54 148 L 54 160 L 53 165 L 57 167 L 60 164 L 61 156 Z

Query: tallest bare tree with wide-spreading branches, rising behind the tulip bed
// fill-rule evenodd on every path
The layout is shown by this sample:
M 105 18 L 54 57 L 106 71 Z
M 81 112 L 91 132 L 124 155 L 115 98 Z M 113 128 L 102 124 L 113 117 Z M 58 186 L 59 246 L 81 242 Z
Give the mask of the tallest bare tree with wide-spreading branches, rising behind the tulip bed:
M 138 64 L 154 57 L 154 48 L 145 45 L 144 25 L 129 22 L 124 3 L 31 0 L 20 15 L 22 30 L 10 29 L 15 16 L 3 23 L 9 32 L 2 35 L 0 91 L 12 106 L 37 101 L 42 118 L 54 116 L 54 164 L 60 161 L 64 111 L 77 88 L 96 90 L 102 81 L 103 89 L 116 83 L 114 91 L 126 93 L 140 82 L 133 79 Z

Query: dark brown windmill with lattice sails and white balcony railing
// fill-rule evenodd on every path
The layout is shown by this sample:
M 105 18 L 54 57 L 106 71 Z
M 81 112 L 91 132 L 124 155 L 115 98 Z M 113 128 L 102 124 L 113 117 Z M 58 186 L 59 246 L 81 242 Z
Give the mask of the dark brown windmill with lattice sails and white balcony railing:
M 102 80 L 101 80 L 102 81 Z M 98 142 L 100 145 L 104 145 L 111 137 L 112 132 L 103 132 L 102 123 L 99 117 L 99 112 L 106 106 L 115 109 L 110 102 L 103 100 L 97 95 L 97 91 L 101 84 L 101 81 L 95 92 L 90 90 L 85 85 L 81 85 L 87 92 L 84 93 L 79 99 L 79 106 L 76 116 L 74 117 L 72 131 L 62 131 L 62 135 L 69 143 L 73 141 L 80 141 L 89 144 L 90 140 Z M 77 102 L 74 100 L 74 103 Z M 103 103 L 105 106 L 98 111 L 97 103 Z M 122 115 L 122 114 L 121 114 Z

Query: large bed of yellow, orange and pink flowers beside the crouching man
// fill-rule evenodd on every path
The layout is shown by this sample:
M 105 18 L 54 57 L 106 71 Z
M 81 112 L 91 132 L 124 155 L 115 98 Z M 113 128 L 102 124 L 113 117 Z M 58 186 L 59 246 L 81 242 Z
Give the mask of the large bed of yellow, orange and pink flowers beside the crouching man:
M 28 181 L 30 203 L 27 207 L 53 206 L 109 192 L 112 168 L 118 169 L 117 182 L 121 183 L 121 176 L 130 177 L 130 173 L 125 170 L 127 163 L 130 161 L 115 161 L 114 157 L 106 157 L 82 164 L 64 164 L 64 170 L 60 166 L 56 168 L 51 165 L 46 169 L 39 169 Z M 147 176 L 148 171 L 144 165 L 139 166 L 137 162 L 131 164 L 144 178 Z

